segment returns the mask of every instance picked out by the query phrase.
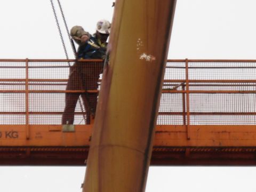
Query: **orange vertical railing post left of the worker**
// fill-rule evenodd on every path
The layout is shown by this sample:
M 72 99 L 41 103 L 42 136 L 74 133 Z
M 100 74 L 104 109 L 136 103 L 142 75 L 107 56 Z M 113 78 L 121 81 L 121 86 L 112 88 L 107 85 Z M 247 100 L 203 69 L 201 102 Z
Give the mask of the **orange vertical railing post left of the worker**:
M 26 139 L 29 139 L 29 93 L 28 93 L 28 58 L 26 58 L 26 82 L 25 82 L 25 110 L 26 110 Z

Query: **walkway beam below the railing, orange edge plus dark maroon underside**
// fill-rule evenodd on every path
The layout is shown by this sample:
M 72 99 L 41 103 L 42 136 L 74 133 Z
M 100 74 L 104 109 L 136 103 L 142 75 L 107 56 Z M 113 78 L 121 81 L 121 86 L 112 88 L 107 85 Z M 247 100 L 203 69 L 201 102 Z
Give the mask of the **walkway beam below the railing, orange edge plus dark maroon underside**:
M 250 125 L 157 125 L 151 165 L 256 165 Z M 0 125 L 0 165 L 85 165 L 92 125 Z

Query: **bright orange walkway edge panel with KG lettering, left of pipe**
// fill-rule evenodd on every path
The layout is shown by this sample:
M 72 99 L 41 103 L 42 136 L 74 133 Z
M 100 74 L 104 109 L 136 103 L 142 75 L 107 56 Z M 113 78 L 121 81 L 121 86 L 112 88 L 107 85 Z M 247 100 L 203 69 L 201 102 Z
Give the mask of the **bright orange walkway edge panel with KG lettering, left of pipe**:
M 76 125 L 76 132 L 62 132 L 61 125 L 0 125 L 0 146 L 5 147 L 86 147 L 92 125 Z

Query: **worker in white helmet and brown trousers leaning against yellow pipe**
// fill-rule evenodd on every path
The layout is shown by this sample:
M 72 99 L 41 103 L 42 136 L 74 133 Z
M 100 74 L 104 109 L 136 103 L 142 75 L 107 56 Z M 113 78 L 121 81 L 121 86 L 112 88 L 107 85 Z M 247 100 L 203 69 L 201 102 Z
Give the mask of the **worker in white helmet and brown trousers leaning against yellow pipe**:
M 97 22 L 96 33 L 91 35 L 81 26 L 71 28 L 70 35 L 79 45 L 78 59 L 105 59 L 107 39 L 110 33 L 110 22 Z M 76 62 L 71 68 L 66 90 L 97 90 L 99 75 L 103 70 L 103 62 Z M 62 124 L 73 124 L 76 103 L 81 93 L 66 93 L 65 109 Z M 86 124 L 90 124 L 90 116 L 95 116 L 97 93 L 82 93 L 86 110 Z

